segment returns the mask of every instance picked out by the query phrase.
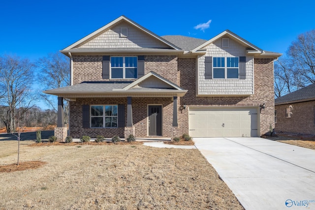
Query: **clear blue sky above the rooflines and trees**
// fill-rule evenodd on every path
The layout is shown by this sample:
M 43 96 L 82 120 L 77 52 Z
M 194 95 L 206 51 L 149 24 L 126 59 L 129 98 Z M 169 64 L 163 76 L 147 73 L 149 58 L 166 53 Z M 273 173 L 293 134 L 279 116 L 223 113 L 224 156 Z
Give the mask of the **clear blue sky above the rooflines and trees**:
M 314 0 L 5 0 L 0 55 L 35 61 L 121 15 L 158 35 L 208 40 L 228 29 L 263 50 L 285 53 L 300 33 L 315 29 L 314 8 Z

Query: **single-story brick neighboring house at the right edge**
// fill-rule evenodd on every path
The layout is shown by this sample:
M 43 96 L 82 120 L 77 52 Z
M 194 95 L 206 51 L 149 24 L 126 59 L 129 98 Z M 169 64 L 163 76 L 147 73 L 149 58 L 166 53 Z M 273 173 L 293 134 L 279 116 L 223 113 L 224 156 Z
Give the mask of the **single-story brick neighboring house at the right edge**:
M 315 134 L 315 84 L 275 99 L 275 131 Z

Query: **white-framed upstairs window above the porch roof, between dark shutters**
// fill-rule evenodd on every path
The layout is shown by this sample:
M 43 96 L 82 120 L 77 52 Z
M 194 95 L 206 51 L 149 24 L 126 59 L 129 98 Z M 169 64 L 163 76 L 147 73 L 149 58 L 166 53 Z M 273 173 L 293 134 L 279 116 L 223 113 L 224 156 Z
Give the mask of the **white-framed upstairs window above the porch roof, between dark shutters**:
M 137 78 L 137 57 L 111 57 L 110 63 L 112 79 Z

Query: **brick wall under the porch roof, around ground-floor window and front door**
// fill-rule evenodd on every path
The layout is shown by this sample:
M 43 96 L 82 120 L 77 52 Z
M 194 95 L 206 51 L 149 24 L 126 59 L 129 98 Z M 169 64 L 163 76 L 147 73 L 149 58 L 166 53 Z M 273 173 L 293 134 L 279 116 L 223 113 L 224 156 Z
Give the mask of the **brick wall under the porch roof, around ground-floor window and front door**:
M 125 121 L 127 119 L 127 99 L 126 98 L 77 98 L 71 101 L 69 133 L 72 138 L 80 138 L 88 135 L 96 138 L 96 135 L 103 135 L 105 138 L 112 138 L 119 135 L 125 138 L 125 127 L 118 128 L 83 128 L 82 127 L 82 105 L 111 105 L 125 104 Z M 162 105 L 162 137 L 170 137 L 172 135 L 173 102 L 171 98 L 132 98 L 132 120 L 134 125 L 134 134 L 136 137 L 148 137 L 148 104 Z M 126 126 L 126 122 L 125 122 Z M 129 133 L 129 131 L 127 130 Z M 132 131 L 133 132 L 133 131 Z

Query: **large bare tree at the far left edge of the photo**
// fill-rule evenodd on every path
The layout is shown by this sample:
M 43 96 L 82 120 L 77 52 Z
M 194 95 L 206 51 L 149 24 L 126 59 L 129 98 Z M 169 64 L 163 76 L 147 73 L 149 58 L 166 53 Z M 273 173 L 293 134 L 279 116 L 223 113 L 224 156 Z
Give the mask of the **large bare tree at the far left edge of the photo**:
M 7 133 L 13 133 L 16 129 L 18 104 L 24 104 L 23 112 L 26 112 L 36 99 L 32 90 L 33 67 L 27 59 L 9 55 L 0 57 L 0 119 Z

